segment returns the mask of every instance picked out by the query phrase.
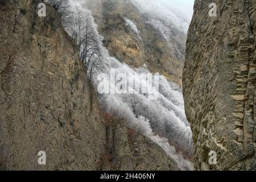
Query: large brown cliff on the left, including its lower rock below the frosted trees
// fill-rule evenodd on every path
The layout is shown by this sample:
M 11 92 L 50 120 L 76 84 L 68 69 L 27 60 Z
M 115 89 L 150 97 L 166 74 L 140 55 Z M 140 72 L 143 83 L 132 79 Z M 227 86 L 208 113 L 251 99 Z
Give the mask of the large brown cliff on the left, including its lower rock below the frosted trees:
M 40 2 L 1 1 L 0 169 L 178 169 L 150 139 L 102 114 L 75 44 L 54 9 L 37 15 Z

